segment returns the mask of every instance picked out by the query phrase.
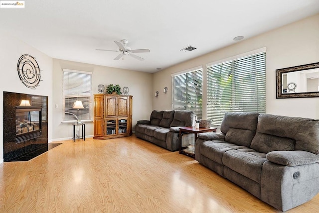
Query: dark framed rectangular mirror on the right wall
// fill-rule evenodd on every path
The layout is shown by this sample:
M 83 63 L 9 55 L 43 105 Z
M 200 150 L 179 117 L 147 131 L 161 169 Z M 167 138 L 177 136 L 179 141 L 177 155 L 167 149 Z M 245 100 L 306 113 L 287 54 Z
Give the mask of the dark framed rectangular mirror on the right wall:
M 319 62 L 276 70 L 276 99 L 319 97 Z

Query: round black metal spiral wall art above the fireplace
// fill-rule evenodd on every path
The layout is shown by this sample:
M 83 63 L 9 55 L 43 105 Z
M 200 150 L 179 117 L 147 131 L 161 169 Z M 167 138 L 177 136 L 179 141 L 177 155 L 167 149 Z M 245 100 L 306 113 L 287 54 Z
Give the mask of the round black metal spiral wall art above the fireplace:
M 17 71 L 21 82 L 27 88 L 36 88 L 39 85 L 40 68 L 34 57 L 27 54 L 22 55 L 18 60 Z

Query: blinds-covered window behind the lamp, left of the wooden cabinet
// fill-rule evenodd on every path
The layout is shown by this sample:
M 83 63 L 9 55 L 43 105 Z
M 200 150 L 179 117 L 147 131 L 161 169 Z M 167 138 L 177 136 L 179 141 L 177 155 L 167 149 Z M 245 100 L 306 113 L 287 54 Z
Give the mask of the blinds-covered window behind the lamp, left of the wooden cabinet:
M 92 73 L 63 69 L 63 121 L 76 121 L 75 101 L 82 101 L 79 119 L 92 120 Z

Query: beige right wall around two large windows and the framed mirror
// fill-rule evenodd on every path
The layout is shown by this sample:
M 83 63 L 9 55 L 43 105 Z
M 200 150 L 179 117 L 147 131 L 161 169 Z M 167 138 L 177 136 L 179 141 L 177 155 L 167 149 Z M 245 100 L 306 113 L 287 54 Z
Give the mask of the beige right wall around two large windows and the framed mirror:
M 234 41 L 234 43 L 234 45 L 155 73 L 153 91 L 160 91 L 160 96 L 153 97 L 154 109 L 171 108 L 172 73 L 201 65 L 204 68 L 203 73 L 206 73 L 207 63 L 267 47 L 266 112 L 319 119 L 319 98 L 276 99 L 275 77 L 276 69 L 319 62 L 319 14 L 241 42 Z M 167 94 L 161 92 L 165 86 L 169 89 Z M 203 91 L 205 88 L 204 84 Z M 203 93 L 203 106 L 207 105 L 206 97 L 206 93 Z M 206 108 L 204 108 L 203 115 L 206 116 Z

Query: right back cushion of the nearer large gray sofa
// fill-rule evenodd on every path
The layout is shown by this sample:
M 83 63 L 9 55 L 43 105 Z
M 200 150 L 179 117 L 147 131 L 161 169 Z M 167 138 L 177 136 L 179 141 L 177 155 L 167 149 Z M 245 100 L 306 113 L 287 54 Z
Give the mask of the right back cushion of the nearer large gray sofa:
M 319 154 L 319 120 L 260 114 L 251 148 L 270 151 L 304 150 Z

